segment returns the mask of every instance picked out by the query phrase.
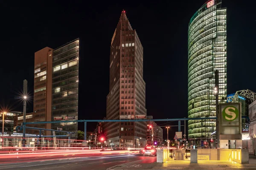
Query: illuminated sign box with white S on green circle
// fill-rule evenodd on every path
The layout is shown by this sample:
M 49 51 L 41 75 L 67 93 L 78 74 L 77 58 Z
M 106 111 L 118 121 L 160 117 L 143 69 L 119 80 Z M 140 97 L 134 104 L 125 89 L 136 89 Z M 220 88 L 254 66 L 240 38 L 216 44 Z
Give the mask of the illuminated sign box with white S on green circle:
M 220 103 L 219 113 L 221 135 L 241 134 L 241 103 Z

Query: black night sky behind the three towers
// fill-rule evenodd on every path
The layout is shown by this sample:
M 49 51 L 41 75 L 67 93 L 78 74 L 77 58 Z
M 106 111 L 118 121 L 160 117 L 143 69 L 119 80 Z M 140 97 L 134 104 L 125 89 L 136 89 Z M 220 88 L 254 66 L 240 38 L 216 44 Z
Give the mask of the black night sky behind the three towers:
M 188 24 L 205 2 L 2 2 L 0 107 L 23 111 L 20 95 L 23 79 L 27 79 L 27 113 L 32 112 L 34 53 L 80 38 L 79 119 L 103 119 L 109 91 L 111 38 L 124 9 L 144 48 L 147 115 L 154 119 L 187 117 Z M 243 89 L 256 92 L 256 2 L 241 2 L 222 3 L 227 8 L 228 94 Z M 93 130 L 95 124 L 87 123 L 87 128 Z M 169 136 L 175 131 L 173 127 Z

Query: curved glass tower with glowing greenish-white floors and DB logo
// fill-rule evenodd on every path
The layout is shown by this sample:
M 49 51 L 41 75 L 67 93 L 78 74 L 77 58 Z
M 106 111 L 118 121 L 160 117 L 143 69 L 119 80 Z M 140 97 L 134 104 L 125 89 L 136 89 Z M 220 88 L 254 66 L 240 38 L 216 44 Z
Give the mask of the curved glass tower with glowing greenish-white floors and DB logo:
M 227 97 L 227 10 L 221 0 L 207 1 L 189 22 L 188 117 L 215 117 L 215 70 L 218 70 L 218 102 Z M 191 144 L 209 140 L 215 120 L 189 120 Z M 215 136 L 213 136 L 215 138 Z M 195 143 L 194 143 L 195 142 Z

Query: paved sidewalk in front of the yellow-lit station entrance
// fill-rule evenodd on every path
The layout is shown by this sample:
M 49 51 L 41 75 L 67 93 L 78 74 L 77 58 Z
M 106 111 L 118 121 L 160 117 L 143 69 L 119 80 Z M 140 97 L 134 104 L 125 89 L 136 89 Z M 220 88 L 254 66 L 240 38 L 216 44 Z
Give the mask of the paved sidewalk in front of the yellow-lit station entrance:
M 251 163 L 252 162 L 252 163 Z M 107 170 L 230 170 L 248 169 L 256 170 L 256 159 L 250 159 L 250 164 L 239 164 L 235 162 L 209 162 L 191 164 L 189 161 L 169 161 L 168 163 L 148 162 L 146 159 L 119 164 Z

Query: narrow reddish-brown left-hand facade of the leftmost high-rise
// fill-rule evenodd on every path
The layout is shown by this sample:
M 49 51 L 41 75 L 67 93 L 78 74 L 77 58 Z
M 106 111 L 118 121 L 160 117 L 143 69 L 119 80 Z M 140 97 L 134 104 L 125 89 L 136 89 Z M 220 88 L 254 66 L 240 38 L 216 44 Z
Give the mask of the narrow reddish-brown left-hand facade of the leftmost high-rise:
M 34 70 L 34 122 L 51 121 L 52 108 L 52 48 L 45 47 L 35 52 Z M 37 128 L 51 129 L 51 124 L 31 125 Z M 32 134 L 39 134 L 33 130 Z M 44 131 L 43 135 L 50 135 Z

